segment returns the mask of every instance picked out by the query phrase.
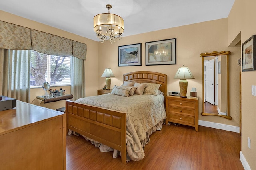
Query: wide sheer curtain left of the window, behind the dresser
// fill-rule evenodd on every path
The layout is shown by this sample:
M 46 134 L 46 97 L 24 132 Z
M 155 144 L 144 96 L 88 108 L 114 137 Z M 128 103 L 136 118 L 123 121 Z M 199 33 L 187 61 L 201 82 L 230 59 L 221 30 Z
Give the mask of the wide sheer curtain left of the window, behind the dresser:
M 30 51 L 0 49 L 0 95 L 30 102 Z

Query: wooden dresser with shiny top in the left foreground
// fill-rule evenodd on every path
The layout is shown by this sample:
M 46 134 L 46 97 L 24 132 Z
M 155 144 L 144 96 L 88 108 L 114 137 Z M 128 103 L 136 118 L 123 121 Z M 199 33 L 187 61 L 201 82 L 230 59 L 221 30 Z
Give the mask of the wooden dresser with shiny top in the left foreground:
M 0 111 L 0 170 L 66 170 L 65 113 L 16 100 Z

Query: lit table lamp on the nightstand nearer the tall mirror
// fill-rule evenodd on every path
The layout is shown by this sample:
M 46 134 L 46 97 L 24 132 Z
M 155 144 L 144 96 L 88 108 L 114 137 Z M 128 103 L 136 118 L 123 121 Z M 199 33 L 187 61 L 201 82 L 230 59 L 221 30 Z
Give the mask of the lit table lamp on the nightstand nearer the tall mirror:
M 175 79 L 180 79 L 180 97 L 186 98 L 187 97 L 187 89 L 188 89 L 188 82 L 186 79 L 194 79 L 194 76 L 188 69 L 188 67 L 180 67 L 176 72 Z

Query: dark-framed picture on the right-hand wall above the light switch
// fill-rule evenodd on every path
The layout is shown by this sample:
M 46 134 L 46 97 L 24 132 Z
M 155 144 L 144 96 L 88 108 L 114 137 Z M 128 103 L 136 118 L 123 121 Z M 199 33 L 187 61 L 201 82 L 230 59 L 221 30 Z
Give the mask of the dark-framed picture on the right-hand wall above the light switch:
M 256 35 L 242 43 L 242 71 L 256 70 Z

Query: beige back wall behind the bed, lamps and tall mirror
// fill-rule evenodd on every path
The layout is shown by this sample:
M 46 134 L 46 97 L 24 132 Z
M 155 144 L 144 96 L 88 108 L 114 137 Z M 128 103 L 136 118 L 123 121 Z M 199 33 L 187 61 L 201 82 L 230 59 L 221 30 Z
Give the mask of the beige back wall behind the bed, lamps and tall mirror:
M 125 33 L 125 32 L 124 32 Z M 176 65 L 162 66 L 145 66 L 145 43 L 163 39 L 177 38 Z M 118 46 L 142 43 L 142 66 L 124 66 L 118 67 Z M 195 87 L 197 88 L 197 96 L 199 97 L 199 111 L 202 112 L 202 58 L 200 53 L 212 51 L 231 51 L 230 55 L 230 115 L 232 120 L 224 119 L 216 116 L 201 116 L 200 120 L 223 123 L 227 125 L 239 126 L 239 71 L 240 66 L 237 60 L 240 58 L 240 47 L 228 47 L 228 19 L 220 19 L 185 25 L 123 37 L 118 43 L 110 44 L 109 42 L 100 43 L 99 45 L 99 72 L 98 72 L 98 88 L 102 88 L 105 84 L 105 78 L 100 77 L 104 69 L 109 67 L 114 72 L 115 77 L 112 78 L 111 86 L 122 84 L 122 75 L 127 72 L 138 70 L 150 70 L 162 72 L 168 75 L 168 91 L 180 91 L 179 80 L 174 79 L 178 68 L 183 64 L 188 66 L 195 79 L 188 80 L 188 93 Z M 238 93 L 237 93 L 238 92 Z

